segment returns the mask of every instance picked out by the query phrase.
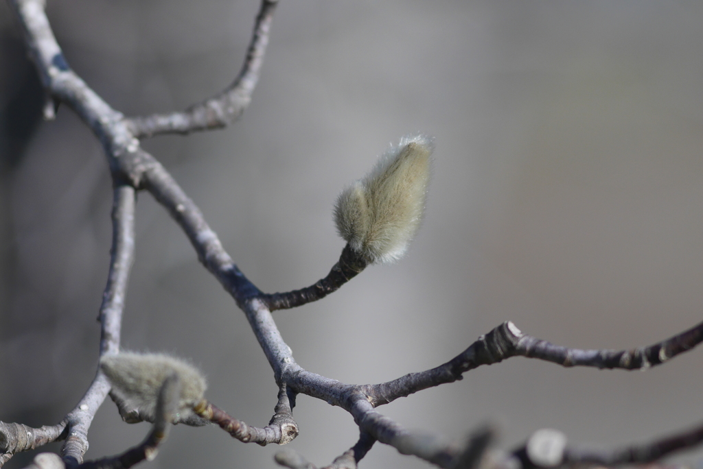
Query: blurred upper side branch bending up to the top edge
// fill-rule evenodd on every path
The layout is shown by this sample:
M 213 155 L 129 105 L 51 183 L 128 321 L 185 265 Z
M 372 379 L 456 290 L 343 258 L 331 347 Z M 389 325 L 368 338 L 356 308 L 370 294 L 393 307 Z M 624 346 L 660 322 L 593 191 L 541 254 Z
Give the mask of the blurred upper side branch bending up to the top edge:
M 263 0 L 254 33 L 242 69 L 233 83 L 222 93 L 188 108 L 184 112 L 153 114 L 129 119 L 129 128 L 138 138 L 162 133 L 190 133 L 222 128 L 238 119 L 249 105 L 259 80 L 273 11 L 278 0 Z

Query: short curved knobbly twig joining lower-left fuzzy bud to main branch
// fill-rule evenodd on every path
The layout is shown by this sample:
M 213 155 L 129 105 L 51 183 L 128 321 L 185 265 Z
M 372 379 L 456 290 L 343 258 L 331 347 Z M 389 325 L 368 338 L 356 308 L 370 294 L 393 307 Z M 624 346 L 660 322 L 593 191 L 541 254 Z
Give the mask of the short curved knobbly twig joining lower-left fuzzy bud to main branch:
M 229 416 L 224 410 L 203 399 L 193 408 L 195 414 L 216 423 L 232 437 L 244 443 L 257 443 L 262 447 L 269 443 L 286 444 L 298 435 L 298 425 L 293 420 L 290 399 L 285 386 L 278 391 L 276 414 L 264 428 L 252 427 Z

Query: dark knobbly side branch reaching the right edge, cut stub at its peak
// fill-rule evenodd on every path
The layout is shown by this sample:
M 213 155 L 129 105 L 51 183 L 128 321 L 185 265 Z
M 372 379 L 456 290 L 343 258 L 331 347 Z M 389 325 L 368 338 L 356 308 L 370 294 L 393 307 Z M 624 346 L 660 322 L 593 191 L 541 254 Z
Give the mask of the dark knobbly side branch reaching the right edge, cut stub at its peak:
M 593 366 L 607 369 L 647 369 L 686 352 L 703 341 L 703 322 L 665 341 L 633 350 L 580 350 L 561 347 L 528 336 L 512 322 L 504 322 L 472 343 L 449 362 L 436 368 L 411 373 L 387 383 L 366 385 L 375 406 L 387 404 L 423 389 L 462 378 L 481 365 L 495 364 L 510 357 L 546 360 L 562 366 Z

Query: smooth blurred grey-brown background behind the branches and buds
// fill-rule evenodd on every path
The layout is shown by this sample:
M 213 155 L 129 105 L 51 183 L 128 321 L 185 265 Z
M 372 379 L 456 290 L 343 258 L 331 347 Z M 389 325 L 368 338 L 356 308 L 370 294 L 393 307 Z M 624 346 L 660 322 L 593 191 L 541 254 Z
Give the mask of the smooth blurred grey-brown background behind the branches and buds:
M 258 2 L 49 0 L 70 65 L 128 115 L 181 110 L 238 72 Z M 396 265 L 275 317 L 304 368 L 376 383 L 445 362 L 512 319 L 579 348 L 633 348 L 701 320 L 703 4 L 697 1 L 283 0 L 259 86 L 222 131 L 144 146 L 264 291 L 316 282 L 344 242 L 342 187 L 406 133 L 437 138 L 423 228 Z M 95 372 L 108 270 L 105 157 L 41 91 L 0 3 L 0 420 L 53 424 Z M 268 423 L 276 385 L 244 315 L 140 194 L 122 344 L 192 359 L 209 399 Z M 522 358 L 380 411 L 501 447 L 551 427 L 643 442 L 703 421 L 703 350 L 639 371 Z M 300 396 L 289 447 L 325 465 L 356 442 L 344 411 Z M 112 402 L 86 458 L 137 444 Z M 50 449 L 58 450 L 59 444 Z M 278 447 L 176 427 L 153 468 L 273 468 Z M 6 465 L 18 468 L 29 456 Z M 700 467 L 703 452 L 683 455 Z M 145 465 L 145 467 L 146 467 Z M 377 445 L 363 468 L 426 468 Z

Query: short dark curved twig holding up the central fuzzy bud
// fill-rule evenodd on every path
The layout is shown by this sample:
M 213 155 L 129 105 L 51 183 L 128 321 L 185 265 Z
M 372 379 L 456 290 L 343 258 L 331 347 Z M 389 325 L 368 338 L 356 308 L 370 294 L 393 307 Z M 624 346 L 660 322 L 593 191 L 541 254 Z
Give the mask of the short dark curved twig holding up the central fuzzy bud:
M 259 298 L 271 311 L 296 308 L 334 293 L 340 286 L 359 275 L 367 265 L 366 260 L 347 244 L 342 250 L 339 262 L 332 267 L 327 277 L 318 280 L 316 284 L 285 293 L 266 293 Z

